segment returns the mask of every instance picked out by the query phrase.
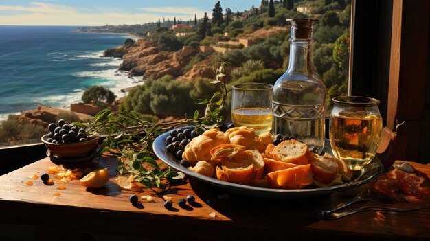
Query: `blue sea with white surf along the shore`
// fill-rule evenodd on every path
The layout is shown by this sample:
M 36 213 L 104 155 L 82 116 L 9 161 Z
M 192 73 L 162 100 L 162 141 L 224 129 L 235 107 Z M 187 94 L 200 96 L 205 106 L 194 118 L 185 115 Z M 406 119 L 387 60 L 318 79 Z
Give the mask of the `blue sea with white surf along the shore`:
M 120 58 L 102 57 L 126 34 L 73 32 L 65 26 L 0 25 L 0 119 L 38 105 L 68 108 L 85 89 L 101 85 L 117 95 L 142 78 L 117 71 Z

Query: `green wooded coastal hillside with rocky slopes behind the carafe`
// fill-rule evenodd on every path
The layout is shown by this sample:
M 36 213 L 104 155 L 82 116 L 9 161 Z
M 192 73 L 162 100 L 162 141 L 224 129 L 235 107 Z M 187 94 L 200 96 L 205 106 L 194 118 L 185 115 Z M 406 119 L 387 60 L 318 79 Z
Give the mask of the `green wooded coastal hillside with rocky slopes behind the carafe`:
M 129 93 L 120 110 L 157 117 L 192 115 L 199 109 L 195 93 L 211 95 L 207 82 L 214 78 L 213 67 L 222 61 L 229 62 L 230 86 L 273 84 L 288 67 L 290 25 L 286 19 L 319 19 L 313 30 L 315 71 L 328 87 L 329 104 L 333 96 L 345 94 L 350 1 L 297 1 L 293 8 L 270 2 L 262 1 L 258 8 L 244 12 L 232 12 L 227 6 L 220 15 L 216 11 L 222 3 L 217 3 L 196 25 L 168 27 L 157 22 L 158 27 L 139 40 L 106 50 L 104 56 L 121 56 L 120 70 L 144 80 Z M 178 102 L 188 104 L 171 109 Z

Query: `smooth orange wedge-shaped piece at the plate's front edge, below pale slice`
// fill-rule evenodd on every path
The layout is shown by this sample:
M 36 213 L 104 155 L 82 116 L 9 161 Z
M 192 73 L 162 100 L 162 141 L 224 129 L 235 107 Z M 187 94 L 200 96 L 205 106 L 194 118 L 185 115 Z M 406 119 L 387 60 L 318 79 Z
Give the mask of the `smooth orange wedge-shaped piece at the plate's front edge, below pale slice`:
M 313 183 L 310 164 L 298 165 L 267 174 L 267 183 L 272 188 L 302 188 Z

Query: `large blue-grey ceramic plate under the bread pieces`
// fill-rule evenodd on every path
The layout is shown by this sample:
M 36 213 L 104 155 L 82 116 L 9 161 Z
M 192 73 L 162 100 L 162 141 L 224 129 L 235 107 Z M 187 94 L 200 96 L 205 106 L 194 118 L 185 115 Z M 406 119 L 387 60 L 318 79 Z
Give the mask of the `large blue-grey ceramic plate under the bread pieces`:
M 193 127 L 189 126 L 187 128 L 192 129 Z M 383 173 L 383 164 L 377 157 L 365 167 L 354 173 L 352 179 L 348 183 L 343 183 L 341 185 L 335 185 L 332 187 L 317 187 L 317 188 L 304 188 L 304 189 L 273 189 L 273 188 L 264 188 L 264 187 L 253 187 L 249 185 L 242 185 L 237 183 L 229 183 L 227 181 L 220 181 L 218 179 L 204 176 L 198 174 L 196 172 L 192 172 L 187 168 L 184 168 L 182 165 L 179 165 L 179 161 L 172 156 L 169 152 L 166 151 L 166 137 L 170 135 L 170 132 L 159 135 L 154 141 L 153 149 L 157 157 L 161 159 L 167 165 L 170 165 L 172 168 L 178 170 L 179 172 L 183 172 L 188 176 L 198 179 L 200 181 L 204 181 L 205 183 L 209 183 L 210 185 L 214 185 L 226 192 L 231 192 L 235 194 L 241 194 L 245 196 L 253 196 L 257 198 L 267 198 L 267 199 L 297 199 L 297 198 L 308 198 L 312 196 L 320 196 L 324 194 L 330 194 L 332 192 L 339 192 L 343 190 L 348 190 L 354 187 L 359 187 L 364 185 L 365 183 L 369 183 L 370 181 L 376 179 L 379 175 Z M 324 152 L 332 154 L 332 150 L 330 148 L 330 141 L 326 139 L 326 143 L 324 144 Z

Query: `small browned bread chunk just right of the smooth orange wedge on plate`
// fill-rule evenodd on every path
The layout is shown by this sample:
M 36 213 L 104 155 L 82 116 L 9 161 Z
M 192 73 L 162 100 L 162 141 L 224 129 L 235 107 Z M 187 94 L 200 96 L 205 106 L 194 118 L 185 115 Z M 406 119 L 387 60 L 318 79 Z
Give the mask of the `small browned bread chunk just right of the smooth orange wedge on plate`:
M 314 154 L 310 165 L 312 167 L 313 178 L 320 183 L 327 184 L 336 179 L 339 165 L 332 157 L 321 157 Z

